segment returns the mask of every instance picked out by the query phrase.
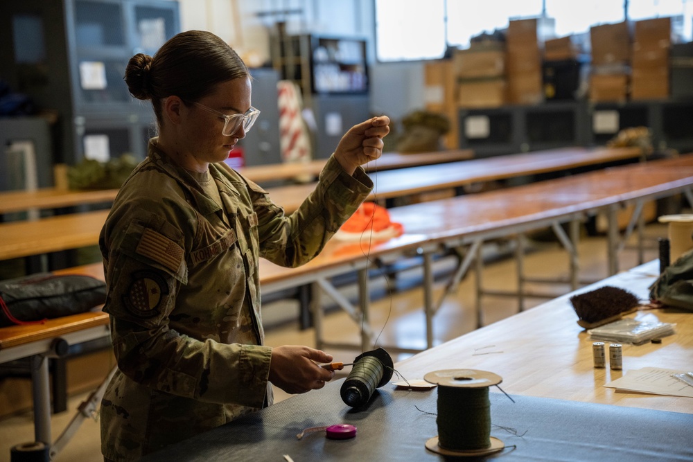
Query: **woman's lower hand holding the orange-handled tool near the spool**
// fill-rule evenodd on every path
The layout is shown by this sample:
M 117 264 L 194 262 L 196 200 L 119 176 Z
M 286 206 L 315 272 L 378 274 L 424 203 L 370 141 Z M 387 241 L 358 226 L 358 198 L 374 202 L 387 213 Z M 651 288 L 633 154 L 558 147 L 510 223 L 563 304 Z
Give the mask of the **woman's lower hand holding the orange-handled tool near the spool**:
M 335 371 L 316 363 L 332 362 L 332 355 L 308 346 L 283 345 L 272 348 L 270 382 L 286 393 L 306 393 L 321 389 Z

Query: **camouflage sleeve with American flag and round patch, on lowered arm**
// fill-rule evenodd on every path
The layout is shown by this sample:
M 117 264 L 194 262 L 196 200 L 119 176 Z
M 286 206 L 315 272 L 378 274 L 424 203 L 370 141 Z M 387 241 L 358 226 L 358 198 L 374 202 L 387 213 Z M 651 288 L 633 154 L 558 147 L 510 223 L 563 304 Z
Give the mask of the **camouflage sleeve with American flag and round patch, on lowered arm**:
M 111 316 L 119 369 L 139 384 L 177 396 L 261 407 L 271 348 L 220 344 L 170 328 L 177 292 L 187 279 L 185 234 L 170 217 L 138 208 L 116 211 L 102 236 L 104 310 Z

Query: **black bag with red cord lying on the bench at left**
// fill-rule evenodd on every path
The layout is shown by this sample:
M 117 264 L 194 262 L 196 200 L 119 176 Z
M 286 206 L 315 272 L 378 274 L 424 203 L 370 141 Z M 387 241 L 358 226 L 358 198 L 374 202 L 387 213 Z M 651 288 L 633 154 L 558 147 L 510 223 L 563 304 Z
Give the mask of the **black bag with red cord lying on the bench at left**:
M 80 274 L 32 274 L 0 281 L 0 327 L 82 313 L 106 301 L 106 283 Z

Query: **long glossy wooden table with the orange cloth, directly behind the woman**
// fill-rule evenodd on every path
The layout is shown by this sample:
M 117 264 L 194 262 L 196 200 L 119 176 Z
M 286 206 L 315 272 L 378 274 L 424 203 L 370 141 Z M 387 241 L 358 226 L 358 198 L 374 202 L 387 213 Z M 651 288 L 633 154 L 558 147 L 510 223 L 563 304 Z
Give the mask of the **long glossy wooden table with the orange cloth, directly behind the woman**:
M 423 307 L 427 319 L 427 342 L 432 347 L 432 317 L 437 308 L 431 295 L 431 260 L 441 245 L 478 245 L 489 238 L 523 233 L 547 225 L 556 225 L 555 228 L 560 229 L 557 224 L 579 220 L 585 213 L 613 208 L 622 202 L 642 201 L 681 192 L 690 196 L 693 186 L 692 159 L 693 157 L 681 157 L 652 161 L 647 165 L 622 166 L 604 172 L 590 172 L 511 189 L 394 208 L 391 215 L 394 221 L 403 223 L 403 236 L 383 242 L 365 240 L 363 245 L 332 240 L 314 260 L 295 269 L 278 267 L 267 260 L 261 260 L 261 287 L 263 293 L 268 294 L 286 287 L 313 284 L 317 346 L 323 348 L 328 344 L 324 341 L 322 332 L 322 307 L 319 304 L 321 291 L 335 297 L 337 303 L 362 326 L 362 344 L 368 344 L 373 332 L 370 332 L 367 323 L 367 297 L 360 300 L 358 308 L 351 307 L 331 287 L 328 278 L 356 270 L 359 273 L 361 292 L 367 294 L 367 267 L 374 258 L 408 253 L 423 254 Z M 102 222 L 104 218 L 105 215 L 100 216 Z M 95 229 L 100 229 L 100 226 Z M 570 245 L 570 240 L 567 243 Z M 574 246 L 572 252 L 575 252 Z M 469 255 L 474 254 L 471 251 Z M 468 265 L 467 259 L 461 267 L 464 265 Z M 103 267 L 100 264 L 80 271 L 103 277 Z M 104 314 L 86 314 L 84 319 L 78 317 L 75 321 L 75 324 L 67 319 L 49 321 L 51 324 L 47 325 L 48 329 L 42 326 L 8 328 L 10 330 L 1 332 L 0 359 L 6 361 L 28 355 L 45 359 L 45 352 L 51 347 L 53 339 L 81 335 L 82 326 L 84 331 L 93 332 L 90 335 L 107 333 Z M 58 326 L 53 326 L 53 323 Z M 97 326 L 91 326 L 90 323 L 96 323 Z M 73 327 L 77 329 L 75 332 L 65 330 Z M 412 351 L 411 348 L 398 349 Z M 43 366 L 37 369 L 42 371 Z M 47 370 L 46 377 L 37 373 L 38 384 L 44 384 L 41 385 L 44 387 L 46 380 Z M 42 395 L 36 391 L 35 396 Z

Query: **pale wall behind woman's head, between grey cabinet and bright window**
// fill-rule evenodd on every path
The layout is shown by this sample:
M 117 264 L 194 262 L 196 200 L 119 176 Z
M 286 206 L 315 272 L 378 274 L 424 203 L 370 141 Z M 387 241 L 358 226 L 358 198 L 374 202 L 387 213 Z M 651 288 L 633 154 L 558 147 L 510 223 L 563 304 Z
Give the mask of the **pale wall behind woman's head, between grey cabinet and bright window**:
M 225 39 L 249 66 L 270 62 L 276 22 L 287 33 L 365 38 L 369 41 L 371 112 L 401 118 L 421 109 L 423 63 L 375 62 L 372 0 L 179 0 L 182 30 L 210 30 Z M 258 17 L 258 12 L 292 11 Z M 299 12 L 293 12 L 299 11 Z

